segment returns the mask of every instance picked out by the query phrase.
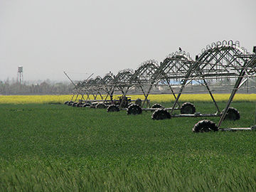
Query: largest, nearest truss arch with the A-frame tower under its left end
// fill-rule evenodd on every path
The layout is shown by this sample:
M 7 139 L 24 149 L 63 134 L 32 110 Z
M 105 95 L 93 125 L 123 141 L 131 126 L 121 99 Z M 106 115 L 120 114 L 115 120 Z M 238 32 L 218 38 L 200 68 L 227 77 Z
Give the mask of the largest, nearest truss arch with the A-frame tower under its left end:
M 206 49 L 202 50 L 201 55 L 196 57 L 196 60 L 181 60 L 179 58 L 171 58 L 171 60 L 180 61 L 183 63 L 181 64 L 183 66 L 190 66 L 187 72 L 180 76 L 181 87 L 176 95 L 174 105 L 171 107 L 171 117 L 221 117 L 223 112 L 220 111 L 220 107 L 215 101 L 210 82 L 213 80 L 222 81 L 223 79 L 236 80 L 241 75 L 242 77 L 246 76 L 249 78 L 250 75 L 248 73 L 240 74 L 240 70 L 243 66 L 245 66 L 246 61 L 251 57 L 252 56 L 247 52 L 247 50 L 240 48 L 238 41 L 235 43 L 233 43 L 233 41 L 223 41 L 223 43 L 218 41 L 217 43 L 212 43 L 211 46 L 207 46 Z M 174 114 L 174 110 L 176 109 L 176 105 L 178 105 L 178 100 L 181 97 L 181 94 L 184 92 L 185 87 L 188 86 L 192 81 L 198 82 L 206 87 L 206 91 L 213 100 L 213 104 L 215 105 L 217 112 L 210 114 Z M 247 80 L 242 82 L 240 86 L 242 86 L 246 81 Z M 228 117 L 238 117 L 239 112 L 232 109 L 228 110 L 228 113 L 230 114 Z M 231 113 L 235 114 L 232 116 Z

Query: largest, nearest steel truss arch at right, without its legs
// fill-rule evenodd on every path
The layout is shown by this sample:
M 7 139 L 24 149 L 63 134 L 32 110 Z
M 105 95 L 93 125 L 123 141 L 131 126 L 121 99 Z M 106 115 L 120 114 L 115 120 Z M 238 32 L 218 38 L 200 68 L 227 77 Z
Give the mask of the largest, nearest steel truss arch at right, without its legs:
M 250 55 L 245 48 L 240 47 L 238 41 L 218 41 L 206 46 L 206 49 L 198 55 L 190 76 L 193 77 L 216 77 L 216 80 L 222 78 L 235 78 L 239 75 L 240 69 L 247 62 L 247 59 L 241 55 Z M 189 73 L 189 70 L 188 70 Z

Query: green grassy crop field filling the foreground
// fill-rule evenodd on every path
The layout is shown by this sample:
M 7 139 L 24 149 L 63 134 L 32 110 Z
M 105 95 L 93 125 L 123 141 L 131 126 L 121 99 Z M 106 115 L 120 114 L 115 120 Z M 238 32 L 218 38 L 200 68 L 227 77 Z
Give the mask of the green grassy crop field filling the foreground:
M 241 119 L 222 127 L 254 124 L 254 103 L 232 107 Z M 256 132 L 194 134 L 201 119 L 0 105 L 0 191 L 256 191 Z

